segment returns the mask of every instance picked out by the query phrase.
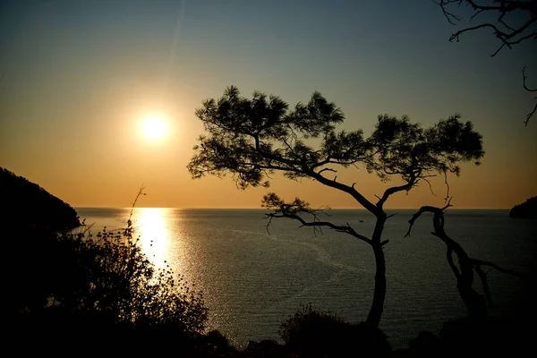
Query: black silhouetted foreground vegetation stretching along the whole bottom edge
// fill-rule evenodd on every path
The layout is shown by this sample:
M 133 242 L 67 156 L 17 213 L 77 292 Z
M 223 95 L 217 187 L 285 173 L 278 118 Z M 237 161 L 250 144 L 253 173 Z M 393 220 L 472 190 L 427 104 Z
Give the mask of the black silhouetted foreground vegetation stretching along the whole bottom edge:
M 1 183 L 5 198 L 7 182 Z M 64 205 L 62 212 L 69 213 Z M 30 217 L 5 217 L 0 224 L 10 268 L 3 305 L 6 342 L 20 354 L 482 356 L 524 352 L 532 338 L 521 321 L 485 316 L 446 322 L 438 335 L 422 332 L 407 349 L 393 350 L 379 328 L 305 305 L 283 320 L 283 344 L 262 340 L 234 347 L 218 331 L 208 331 L 202 295 L 174 272 L 149 262 L 131 221 L 121 231 L 93 235 L 84 226 L 72 231 L 70 215 L 55 217 L 64 230 Z

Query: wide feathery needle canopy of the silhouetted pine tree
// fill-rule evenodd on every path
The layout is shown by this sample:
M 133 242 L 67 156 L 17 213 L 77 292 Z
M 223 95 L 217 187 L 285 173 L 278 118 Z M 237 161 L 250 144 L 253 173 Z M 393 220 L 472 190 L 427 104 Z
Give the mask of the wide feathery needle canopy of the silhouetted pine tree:
M 379 115 L 367 138 L 362 130 L 337 131 L 345 117 L 340 108 L 319 92 L 308 103 L 290 109 L 277 96 L 254 92 L 251 99 L 232 86 L 219 99 L 207 99 L 196 115 L 207 134 L 201 135 L 188 166 L 194 178 L 231 174 L 239 187 L 268 186 L 277 171 L 289 179 L 310 177 L 348 192 L 365 209 L 375 212 L 388 197 L 408 191 L 433 175 L 459 175 L 460 162 L 479 164 L 482 136 L 461 115 L 451 115 L 430 128 L 412 124 L 407 115 Z M 310 139 L 320 139 L 319 148 Z M 372 203 L 328 173 L 362 165 L 383 181 L 393 176 L 404 184 L 388 188 Z

